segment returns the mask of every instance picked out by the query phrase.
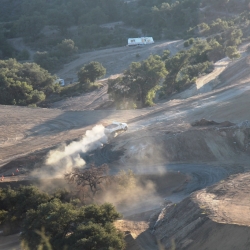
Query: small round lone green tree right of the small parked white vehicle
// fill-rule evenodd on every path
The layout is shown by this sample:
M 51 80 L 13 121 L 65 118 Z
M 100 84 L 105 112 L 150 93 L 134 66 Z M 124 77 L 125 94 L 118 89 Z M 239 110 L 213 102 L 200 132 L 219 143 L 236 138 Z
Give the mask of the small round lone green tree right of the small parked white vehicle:
M 106 69 L 99 62 L 90 62 L 85 64 L 77 73 L 78 81 L 81 85 L 86 85 L 90 82 L 95 82 L 96 79 L 106 74 Z

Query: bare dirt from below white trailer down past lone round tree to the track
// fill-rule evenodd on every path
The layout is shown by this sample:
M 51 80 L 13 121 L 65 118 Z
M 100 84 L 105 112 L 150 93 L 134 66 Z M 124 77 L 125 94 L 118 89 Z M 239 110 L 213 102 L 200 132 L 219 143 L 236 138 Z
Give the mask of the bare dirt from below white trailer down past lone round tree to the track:
M 77 72 L 84 64 L 98 61 L 107 71 L 105 78 L 100 81 L 103 87 L 88 94 L 52 103 L 50 107 L 65 111 L 103 109 L 106 104 L 109 104 L 107 94 L 107 80 L 109 78 L 118 77 L 129 67 L 131 62 L 145 60 L 150 54 L 162 55 L 163 51 L 167 49 L 173 55 L 183 49 L 183 41 L 156 42 L 147 46 L 125 46 L 80 54 L 77 60 L 64 65 L 64 68 L 57 72 L 57 75 L 65 79 L 66 84 L 77 81 Z

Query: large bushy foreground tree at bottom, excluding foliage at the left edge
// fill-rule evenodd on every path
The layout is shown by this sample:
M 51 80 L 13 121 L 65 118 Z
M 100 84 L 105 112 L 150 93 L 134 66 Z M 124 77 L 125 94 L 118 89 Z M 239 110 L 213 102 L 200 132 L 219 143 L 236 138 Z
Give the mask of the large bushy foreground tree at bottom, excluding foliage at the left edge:
M 21 238 L 31 249 L 45 246 L 36 233 L 44 228 L 53 249 L 124 249 L 124 236 L 112 224 L 119 218 L 111 204 L 79 207 L 53 199 L 26 213 Z

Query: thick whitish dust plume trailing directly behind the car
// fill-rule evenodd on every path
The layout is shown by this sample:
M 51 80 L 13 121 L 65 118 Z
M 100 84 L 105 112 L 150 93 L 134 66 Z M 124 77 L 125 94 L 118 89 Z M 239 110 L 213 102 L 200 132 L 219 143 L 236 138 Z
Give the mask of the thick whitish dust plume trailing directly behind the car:
M 96 125 L 91 130 L 87 130 L 80 141 L 73 141 L 69 145 L 64 144 L 51 150 L 47 154 L 43 166 L 33 171 L 32 176 L 40 179 L 61 178 L 72 168 L 85 166 L 85 161 L 80 157 L 80 153 L 95 150 L 104 143 L 107 143 L 104 127 Z

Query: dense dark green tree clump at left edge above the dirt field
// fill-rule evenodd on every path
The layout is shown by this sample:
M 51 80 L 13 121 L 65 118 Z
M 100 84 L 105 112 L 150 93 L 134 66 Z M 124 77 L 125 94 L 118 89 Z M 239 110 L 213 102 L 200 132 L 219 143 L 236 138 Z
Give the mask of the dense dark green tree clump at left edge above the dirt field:
M 35 63 L 18 63 L 14 59 L 0 61 L 0 104 L 28 105 L 54 93 L 55 77 Z

